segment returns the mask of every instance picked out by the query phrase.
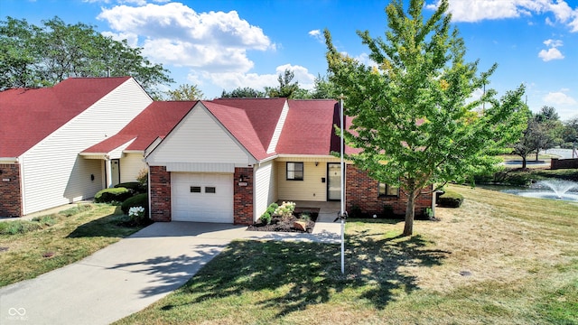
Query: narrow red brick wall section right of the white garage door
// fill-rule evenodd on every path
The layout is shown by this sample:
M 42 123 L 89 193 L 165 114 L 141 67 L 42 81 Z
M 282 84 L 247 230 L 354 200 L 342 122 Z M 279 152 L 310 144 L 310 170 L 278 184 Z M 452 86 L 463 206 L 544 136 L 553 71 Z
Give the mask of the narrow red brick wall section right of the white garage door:
M 243 176 L 247 186 L 239 186 Z M 250 225 L 253 223 L 253 167 L 235 168 L 233 176 L 233 222 L 236 225 Z

